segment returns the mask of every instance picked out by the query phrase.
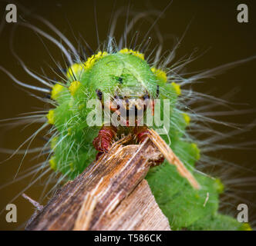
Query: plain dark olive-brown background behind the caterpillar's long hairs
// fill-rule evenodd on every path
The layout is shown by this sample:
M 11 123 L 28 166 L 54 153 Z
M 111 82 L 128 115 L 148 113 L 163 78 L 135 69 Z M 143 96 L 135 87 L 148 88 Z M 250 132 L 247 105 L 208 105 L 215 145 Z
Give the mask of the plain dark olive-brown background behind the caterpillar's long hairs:
M 162 10 L 167 6 L 169 1 L 130 1 L 130 7 L 133 11 L 141 12 L 146 9 Z M 237 5 L 239 3 L 246 3 L 249 8 L 249 23 L 237 22 Z M 128 1 L 116 1 L 115 9 L 122 6 L 127 6 Z M 3 16 L 5 14 L 5 2 L 0 2 L 0 13 Z M 75 41 L 72 31 L 77 35 L 80 33 L 92 48 L 97 48 L 96 45 L 96 31 L 94 24 L 93 14 L 93 1 L 22 1 L 22 5 L 25 5 L 30 10 L 33 10 L 38 15 L 42 15 L 60 31 L 62 31 L 67 38 L 72 42 Z M 98 1 L 96 2 L 96 13 L 99 25 L 99 38 L 103 41 L 106 38 L 107 28 L 109 27 L 109 18 L 113 11 L 114 2 Z M 22 12 L 18 7 L 18 15 L 24 18 Z M 32 18 L 25 17 L 32 24 L 35 24 L 44 31 L 48 29 L 43 27 L 39 22 L 32 20 Z M 158 25 L 160 32 L 163 36 L 176 35 L 180 37 L 187 25 L 191 22 L 187 35 L 180 46 L 178 56 L 181 57 L 185 54 L 193 52 L 194 48 L 199 48 L 199 54 L 203 53 L 207 48 L 209 51 L 202 57 L 198 58 L 195 62 L 189 65 L 189 71 L 197 71 L 205 68 L 214 68 L 217 65 L 222 65 L 227 62 L 234 62 L 241 58 L 248 58 L 251 55 L 256 55 L 256 4 L 255 1 L 173 1 L 173 4 L 165 12 L 163 18 L 160 18 Z M 125 18 L 120 18 L 120 22 L 116 28 L 116 34 L 120 36 L 125 24 Z M 145 24 L 145 25 L 144 25 Z M 6 24 L 3 32 L 0 34 L 0 65 L 12 71 L 12 74 L 20 81 L 25 81 L 33 85 L 38 85 L 37 82 L 30 78 L 22 71 L 21 66 L 15 58 L 12 56 L 9 48 L 10 31 L 15 24 Z M 148 22 L 143 23 L 141 26 L 141 32 L 147 32 L 150 24 Z M 147 27 L 147 28 L 146 28 Z M 52 32 L 49 32 L 52 34 Z M 56 61 L 62 62 L 62 55 L 55 45 L 45 41 L 45 45 L 49 48 L 52 56 L 56 58 Z M 156 42 L 156 41 L 154 41 Z M 164 42 L 163 50 L 170 49 L 171 42 Z M 41 71 L 44 68 L 45 73 L 53 78 L 52 72 L 47 68 L 47 64 L 54 67 L 54 63 L 45 50 L 44 45 L 35 33 L 29 31 L 27 28 L 19 28 L 15 35 L 15 51 L 19 54 L 22 60 L 29 68 L 35 71 Z M 62 62 L 63 64 L 63 62 Z M 239 65 L 236 68 L 226 71 L 222 75 L 218 75 L 214 79 L 206 79 L 204 84 L 195 85 L 197 91 L 203 93 L 211 92 L 211 95 L 221 98 L 234 88 L 237 88 L 237 93 L 231 98 L 231 101 L 236 103 L 243 103 L 244 105 L 237 105 L 236 108 L 256 108 L 256 60 L 248 62 L 243 65 Z M 29 111 L 42 110 L 47 108 L 41 101 L 32 98 L 28 93 L 16 86 L 8 76 L 0 72 L 1 75 L 1 116 L 0 118 L 12 118 L 21 113 Z M 255 118 L 254 114 L 248 115 L 236 115 L 236 116 L 224 116 L 221 119 L 224 121 L 233 121 L 236 123 L 248 124 Z M 2 148 L 18 148 L 18 146 L 25 141 L 29 135 L 35 131 L 36 126 L 29 126 L 22 130 L 19 128 L 9 128 L 3 125 L 0 130 L 0 147 Z M 221 131 L 224 128 L 218 127 Z M 244 133 L 242 137 L 235 137 L 232 142 L 241 141 L 254 141 L 256 136 L 256 129 L 252 129 L 248 133 Z M 35 138 L 32 147 L 40 146 L 44 142 L 41 138 Z M 229 141 L 226 141 L 229 143 Z M 255 147 L 255 145 L 252 145 Z M 214 155 L 218 158 L 223 158 L 227 161 L 234 161 L 238 165 L 250 168 L 251 171 L 237 171 L 234 176 L 227 178 L 238 177 L 252 177 L 255 176 L 255 151 L 254 149 L 248 151 L 237 151 L 235 149 L 217 151 Z M 29 155 L 25 158 L 22 164 L 21 171 L 25 168 L 29 168 L 31 165 L 39 163 L 41 160 L 33 160 L 33 155 Z M 0 160 L 8 158 L 8 155 L 1 154 Z M 9 161 L 5 161 L 0 165 L 0 185 L 14 178 L 15 172 L 19 167 L 19 163 L 22 157 L 15 156 Z M 229 168 L 229 166 L 227 166 Z M 225 167 L 222 168 L 222 171 Z M 228 170 L 227 170 L 228 171 Z M 211 170 L 210 170 L 211 172 Z M 5 208 L 6 204 L 18 194 L 25 185 L 29 184 L 30 178 L 25 178 L 20 182 L 15 182 L 6 188 L 0 190 L 0 209 Z M 41 181 L 41 183 L 43 180 Z M 256 219 L 254 202 L 256 201 L 256 195 L 254 193 L 255 181 L 251 185 L 237 186 L 237 196 L 239 198 L 246 198 L 249 208 L 249 221 L 253 222 Z M 42 191 L 42 185 L 40 182 L 29 188 L 26 191 L 32 198 L 39 199 L 40 191 Z M 47 201 L 47 198 L 45 199 Z M 231 204 L 229 211 L 234 214 L 237 213 L 236 208 L 238 203 L 242 203 L 242 200 L 236 202 L 230 201 Z M 22 228 L 23 223 L 32 214 L 32 205 L 25 201 L 23 198 L 18 198 L 14 201 L 18 208 L 18 223 L 9 224 L 5 221 L 4 211 L 0 216 L 0 228 L 2 230 L 12 230 Z M 233 211 L 232 211 L 233 209 Z

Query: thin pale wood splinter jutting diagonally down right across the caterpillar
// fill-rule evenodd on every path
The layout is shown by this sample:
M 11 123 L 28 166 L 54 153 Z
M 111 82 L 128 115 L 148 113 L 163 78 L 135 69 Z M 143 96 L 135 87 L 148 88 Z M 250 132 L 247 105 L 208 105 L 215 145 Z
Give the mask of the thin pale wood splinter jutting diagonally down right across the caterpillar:
M 153 144 L 157 146 L 159 151 L 161 151 L 161 153 L 167 159 L 167 161 L 170 164 L 175 165 L 179 174 L 182 177 L 187 178 L 187 181 L 189 181 L 194 188 L 200 189 L 200 184 L 197 183 L 197 180 L 190 173 L 190 171 L 187 170 L 187 168 L 180 161 L 177 155 L 173 153 L 170 146 L 167 145 L 165 141 L 163 141 L 163 139 L 160 137 L 160 135 L 157 134 L 156 131 L 154 131 L 153 129 L 148 129 L 148 130 L 150 131 L 150 134 L 148 135 L 148 137 L 150 138 L 151 141 L 153 141 Z

